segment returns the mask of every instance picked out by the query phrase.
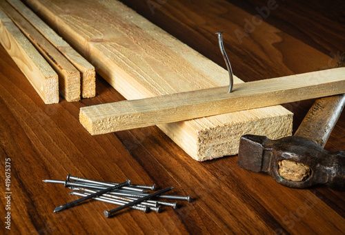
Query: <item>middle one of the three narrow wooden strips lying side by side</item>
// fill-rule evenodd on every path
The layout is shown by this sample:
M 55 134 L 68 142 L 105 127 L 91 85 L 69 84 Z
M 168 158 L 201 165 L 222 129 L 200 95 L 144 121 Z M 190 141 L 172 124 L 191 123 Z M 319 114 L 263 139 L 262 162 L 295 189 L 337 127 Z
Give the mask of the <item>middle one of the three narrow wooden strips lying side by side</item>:
M 80 73 L 63 55 L 50 44 L 21 14 L 6 1 L 0 7 L 31 41 L 32 45 L 59 75 L 59 92 L 68 102 L 80 100 Z

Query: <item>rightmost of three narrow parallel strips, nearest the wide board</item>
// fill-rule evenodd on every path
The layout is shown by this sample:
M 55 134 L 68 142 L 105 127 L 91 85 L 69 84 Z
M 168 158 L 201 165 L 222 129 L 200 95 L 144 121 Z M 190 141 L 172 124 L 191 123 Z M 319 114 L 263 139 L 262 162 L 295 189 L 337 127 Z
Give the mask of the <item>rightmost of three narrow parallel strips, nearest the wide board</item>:
M 19 0 L 8 0 L 8 2 L 36 28 L 43 37 L 46 37 L 52 45 L 61 52 L 81 74 L 81 97 L 91 98 L 96 95 L 96 72 L 86 59 L 75 51 L 59 34 L 50 28 L 44 21 L 37 17 L 30 8 Z

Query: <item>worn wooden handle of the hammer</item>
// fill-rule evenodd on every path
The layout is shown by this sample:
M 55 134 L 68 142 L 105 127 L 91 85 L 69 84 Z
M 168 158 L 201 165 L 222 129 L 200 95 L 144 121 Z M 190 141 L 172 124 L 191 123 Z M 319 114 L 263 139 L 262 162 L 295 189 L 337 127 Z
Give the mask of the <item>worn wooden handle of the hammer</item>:
M 344 105 L 345 94 L 317 99 L 299 125 L 295 136 L 306 137 L 324 147 Z

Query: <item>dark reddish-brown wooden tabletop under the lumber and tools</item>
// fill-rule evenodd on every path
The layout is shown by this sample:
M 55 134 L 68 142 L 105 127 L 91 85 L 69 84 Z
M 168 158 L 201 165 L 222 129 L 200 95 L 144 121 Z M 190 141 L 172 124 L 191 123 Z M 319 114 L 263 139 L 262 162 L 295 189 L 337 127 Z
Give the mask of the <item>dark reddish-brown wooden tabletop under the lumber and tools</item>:
M 224 31 L 233 70 L 244 81 L 333 68 L 345 51 L 340 0 L 123 2 L 225 68 L 215 35 Z M 0 48 L 1 231 L 9 232 L 4 222 L 10 212 L 12 234 L 344 234 L 344 192 L 283 187 L 266 174 L 237 167 L 237 156 L 199 163 L 157 127 L 90 136 L 79 123 L 79 108 L 123 99 L 98 76 L 95 98 L 45 105 Z M 294 130 L 312 103 L 284 105 L 295 113 Z M 326 150 L 345 150 L 344 117 Z M 161 214 L 126 210 L 106 218 L 103 210 L 113 206 L 98 201 L 53 214 L 77 196 L 42 180 L 67 174 L 174 186 L 173 194 L 190 194 L 195 201 Z

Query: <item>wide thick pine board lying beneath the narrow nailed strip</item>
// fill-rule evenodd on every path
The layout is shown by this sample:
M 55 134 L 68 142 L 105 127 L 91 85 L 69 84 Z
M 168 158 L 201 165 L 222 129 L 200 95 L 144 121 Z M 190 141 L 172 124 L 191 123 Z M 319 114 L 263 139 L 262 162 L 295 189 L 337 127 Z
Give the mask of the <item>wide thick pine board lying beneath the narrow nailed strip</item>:
M 28 0 L 28 3 L 92 61 L 97 72 L 126 99 L 228 84 L 224 68 L 119 1 Z M 235 77 L 235 83 L 241 82 Z M 290 135 L 292 118 L 291 112 L 275 106 L 169 123 L 159 128 L 193 159 L 204 161 L 237 154 L 242 134 L 262 134 L 270 139 Z

